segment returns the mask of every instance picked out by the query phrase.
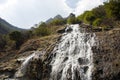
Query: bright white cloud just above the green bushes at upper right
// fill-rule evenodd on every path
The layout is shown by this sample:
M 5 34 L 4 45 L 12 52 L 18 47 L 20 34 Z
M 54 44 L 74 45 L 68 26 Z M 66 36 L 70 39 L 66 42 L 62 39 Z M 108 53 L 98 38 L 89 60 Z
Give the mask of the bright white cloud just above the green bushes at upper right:
M 91 10 L 98 5 L 103 4 L 104 1 L 105 0 L 75 0 L 75 2 L 73 2 L 73 0 L 66 0 L 66 4 L 68 5 L 68 7 L 73 9 L 73 13 L 75 13 L 76 15 L 80 15 L 86 10 Z M 74 7 L 72 7 L 71 5 L 73 5 Z

